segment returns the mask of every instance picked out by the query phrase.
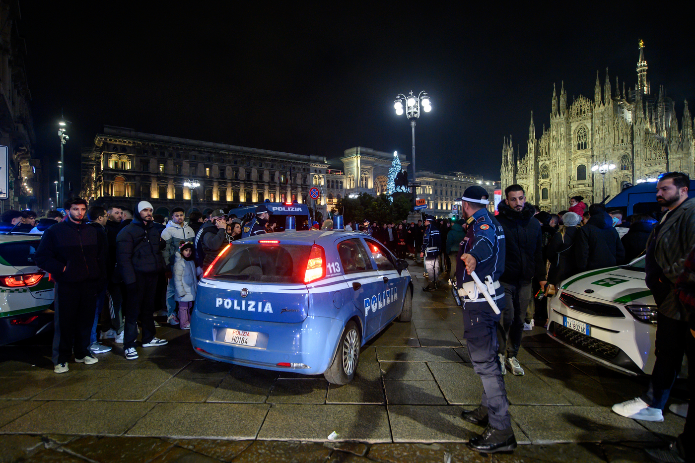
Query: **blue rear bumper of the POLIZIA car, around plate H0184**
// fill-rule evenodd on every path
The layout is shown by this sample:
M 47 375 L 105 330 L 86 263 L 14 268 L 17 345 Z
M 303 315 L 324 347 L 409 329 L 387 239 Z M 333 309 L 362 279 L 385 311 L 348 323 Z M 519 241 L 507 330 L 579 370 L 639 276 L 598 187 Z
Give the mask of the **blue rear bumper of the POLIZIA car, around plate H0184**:
M 308 316 L 301 323 L 263 322 L 205 314 L 194 309 L 190 341 L 198 355 L 231 364 L 318 375 L 331 364 L 344 323 Z M 227 329 L 259 333 L 255 347 L 224 341 Z M 290 366 L 279 366 L 285 363 Z M 304 366 L 302 366 L 304 365 Z

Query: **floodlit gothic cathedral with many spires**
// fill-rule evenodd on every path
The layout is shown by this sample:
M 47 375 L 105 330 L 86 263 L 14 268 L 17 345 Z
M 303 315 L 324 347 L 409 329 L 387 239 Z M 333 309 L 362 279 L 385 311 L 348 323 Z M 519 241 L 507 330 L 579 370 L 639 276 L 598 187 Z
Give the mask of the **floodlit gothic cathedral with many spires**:
M 662 172 L 694 174 L 693 120 L 685 101 L 682 122 L 673 100 L 663 88 L 653 94 L 646 79 L 644 43 L 639 42 L 637 84 L 626 92 L 611 88 L 606 70 L 603 95 L 598 72 L 594 101 L 580 95 L 567 106 L 564 83 L 559 100 L 553 86 L 550 128 L 543 126 L 541 138 L 531 114 L 528 151 L 520 156 L 512 138 L 502 147 L 502 189 L 511 184 L 523 186 L 527 201 L 545 211 L 561 211 L 569 198 L 583 196 L 584 202 L 600 202 L 613 197 L 623 187 Z M 616 168 L 601 174 L 596 165 L 614 163 Z

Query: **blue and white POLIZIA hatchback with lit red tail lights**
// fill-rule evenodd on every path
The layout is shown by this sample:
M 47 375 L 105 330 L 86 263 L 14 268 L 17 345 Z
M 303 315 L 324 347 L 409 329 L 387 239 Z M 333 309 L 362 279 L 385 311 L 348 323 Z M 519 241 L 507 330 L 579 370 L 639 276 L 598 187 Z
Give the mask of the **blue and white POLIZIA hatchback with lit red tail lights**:
M 360 347 L 394 319 L 411 319 L 407 266 L 356 232 L 286 231 L 234 241 L 198 285 L 193 348 L 208 359 L 322 373 L 347 384 Z

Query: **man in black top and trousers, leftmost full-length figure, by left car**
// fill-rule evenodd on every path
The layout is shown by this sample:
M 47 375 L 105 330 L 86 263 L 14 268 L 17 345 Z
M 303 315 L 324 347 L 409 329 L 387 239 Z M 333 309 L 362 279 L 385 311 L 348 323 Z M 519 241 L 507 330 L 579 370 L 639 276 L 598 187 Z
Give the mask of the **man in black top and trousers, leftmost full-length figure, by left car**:
M 66 373 L 67 362 L 99 362 L 89 351 L 97 294 L 106 283 L 106 235 L 85 224 L 87 202 L 70 200 L 68 219 L 49 227 L 36 250 L 36 266 L 56 282 L 53 364 Z

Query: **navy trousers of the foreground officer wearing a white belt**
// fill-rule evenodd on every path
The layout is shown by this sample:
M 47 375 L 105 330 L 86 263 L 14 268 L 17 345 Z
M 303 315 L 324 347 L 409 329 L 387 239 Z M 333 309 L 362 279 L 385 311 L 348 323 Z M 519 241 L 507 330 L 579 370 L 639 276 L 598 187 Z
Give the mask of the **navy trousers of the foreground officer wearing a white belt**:
M 490 425 L 498 430 L 510 428 L 507 389 L 502 379 L 500 359 L 497 356 L 498 343 L 496 326 L 491 324 L 481 330 L 475 330 L 477 336 L 466 337 L 468 356 L 473 362 L 473 371 L 482 381 L 481 404 L 487 407 Z

